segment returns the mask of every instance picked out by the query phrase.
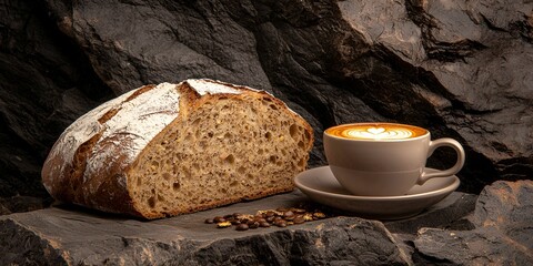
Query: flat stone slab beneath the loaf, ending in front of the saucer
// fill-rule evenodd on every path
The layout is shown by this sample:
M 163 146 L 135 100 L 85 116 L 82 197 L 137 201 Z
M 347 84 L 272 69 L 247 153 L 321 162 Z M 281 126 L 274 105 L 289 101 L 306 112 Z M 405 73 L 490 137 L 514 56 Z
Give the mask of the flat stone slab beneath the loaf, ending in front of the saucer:
M 299 193 L 158 221 L 72 206 L 0 216 L 0 264 L 47 265 L 406 265 L 378 221 L 331 217 L 238 232 L 204 224 L 232 213 L 290 207 Z

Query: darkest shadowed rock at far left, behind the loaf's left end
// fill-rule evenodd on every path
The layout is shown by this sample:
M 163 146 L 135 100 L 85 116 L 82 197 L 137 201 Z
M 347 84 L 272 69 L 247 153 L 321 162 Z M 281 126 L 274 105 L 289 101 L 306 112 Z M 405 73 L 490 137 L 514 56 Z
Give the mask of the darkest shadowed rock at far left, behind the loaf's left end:
M 49 197 L 40 178 L 48 151 L 73 120 L 112 96 L 44 10 L 40 1 L 0 1 L 2 198 Z

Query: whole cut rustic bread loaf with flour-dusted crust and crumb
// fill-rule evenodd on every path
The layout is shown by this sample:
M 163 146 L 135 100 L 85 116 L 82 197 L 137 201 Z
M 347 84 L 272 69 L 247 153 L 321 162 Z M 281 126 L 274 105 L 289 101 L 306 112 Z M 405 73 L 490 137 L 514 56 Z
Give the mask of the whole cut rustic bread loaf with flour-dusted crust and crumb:
M 158 218 L 291 191 L 312 143 L 310 125 L 265 92 L 145 85 L 72 123 L 42 180 L 59 201 Z

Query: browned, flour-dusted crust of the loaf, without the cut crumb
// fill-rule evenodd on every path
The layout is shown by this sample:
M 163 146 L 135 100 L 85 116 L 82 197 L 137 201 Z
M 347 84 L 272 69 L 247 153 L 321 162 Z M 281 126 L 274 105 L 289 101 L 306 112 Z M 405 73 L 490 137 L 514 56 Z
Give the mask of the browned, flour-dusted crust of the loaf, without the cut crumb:
M 144 218 L 173 216 L 244 198 L 254 200 L 289 192 L 293 190 L 293 185 L 244 196 L 229 196 L 214 203 L 197 204 L 188 209 L 170 209 L 164 213 L 143 211 L 134 200 L 129 181 L 131 171 L 140 163 L 139 157 L 154 146 L 153 143 L 162 141 L 168 129 L 180 126 L 182 121 L 205 102 L 220 99 L 247 101 L 245 98 L 268 99 L 286 112 L 304 127 L 305 134 L 309 134 L 310 141 L 304 145 L 306 151 L 311 150 L 312 127 L 281 100 L 266 92 L 213 80 L 145 85 L 103 103 L 63 132 L 44 162 L 44 187 L 61 202 Z M 135 111 L 138 109 L 145 110 Z

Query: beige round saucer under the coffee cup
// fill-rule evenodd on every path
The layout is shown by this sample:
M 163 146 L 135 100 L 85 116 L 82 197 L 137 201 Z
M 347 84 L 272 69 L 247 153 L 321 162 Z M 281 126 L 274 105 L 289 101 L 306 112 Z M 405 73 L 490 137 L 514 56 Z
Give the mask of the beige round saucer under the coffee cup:
M 414 216 L 442 201 L 459 187 L 460 181 L 457 176 L 451 175 L 429 180 L 421 186 L 415 185 L 402 196 L 356 196 L 339 184 L 329 166 L 322 166 L 298 174 L 294 183 L 300 191 L 318 203 L 361 217 L 400 219 Z

